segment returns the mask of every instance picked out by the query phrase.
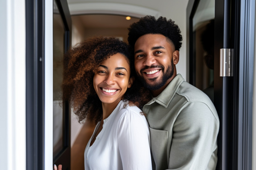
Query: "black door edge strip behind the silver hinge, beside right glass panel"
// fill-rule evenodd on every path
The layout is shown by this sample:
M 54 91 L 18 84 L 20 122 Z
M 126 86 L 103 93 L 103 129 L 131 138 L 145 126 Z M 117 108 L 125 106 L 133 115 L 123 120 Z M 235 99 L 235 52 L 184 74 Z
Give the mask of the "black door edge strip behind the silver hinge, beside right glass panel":
M 231 48 L 230 46 L 230 0 L 215 1 L 215 27 L 214 27 L 214 105 L 220 119 L 218 134 L 218 162 L 216 169 L 232 169 L 230 151 L 232 150 L 232 90 L 230 83 L 232 77 L 220 77 L 220 49 Z M 231 99 L 230 99 L 231 98 Z M 231 132 L 231 133 L 230 133 Z M 230 146 L 231 145 L 231 146 Z

